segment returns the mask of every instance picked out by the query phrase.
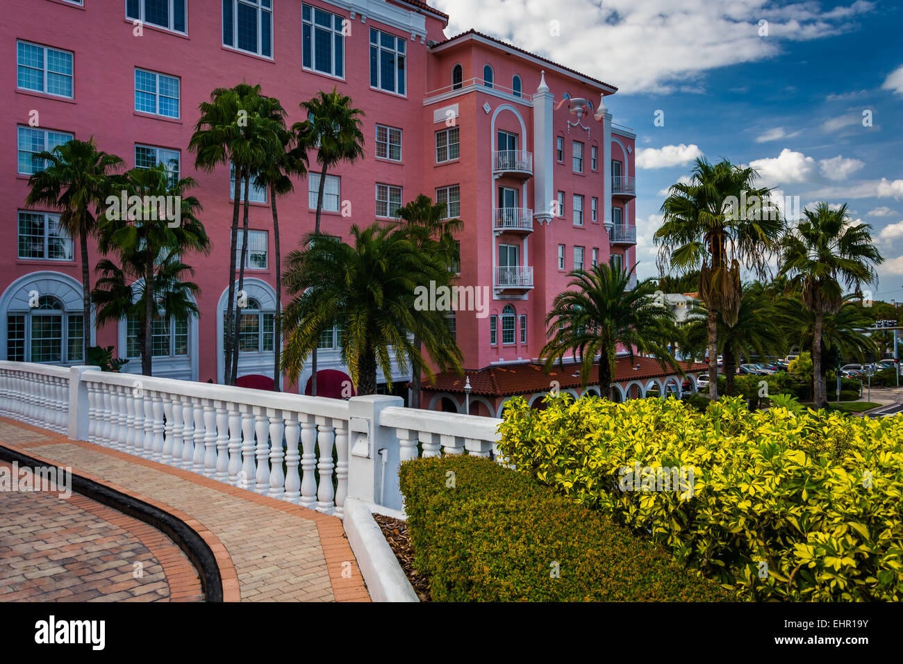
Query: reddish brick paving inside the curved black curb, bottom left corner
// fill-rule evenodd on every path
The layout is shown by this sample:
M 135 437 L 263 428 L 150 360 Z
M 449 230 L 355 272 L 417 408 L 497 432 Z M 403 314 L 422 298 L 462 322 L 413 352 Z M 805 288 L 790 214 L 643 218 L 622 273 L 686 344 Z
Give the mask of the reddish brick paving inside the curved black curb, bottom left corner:
M 32 473 L 20 474 L 34 486 Z M 198 573 L 170 538 L 79 494 L 41 488 L 0 492 L 0 602 L 203 600 Z

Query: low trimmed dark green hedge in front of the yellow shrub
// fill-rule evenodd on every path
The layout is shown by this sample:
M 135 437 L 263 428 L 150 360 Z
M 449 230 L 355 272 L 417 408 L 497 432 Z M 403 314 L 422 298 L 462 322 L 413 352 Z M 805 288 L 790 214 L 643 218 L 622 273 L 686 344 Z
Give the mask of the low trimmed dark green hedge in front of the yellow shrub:
M 434 601 L 730 598 L 608 516 L 488 459 L 418 459 L 399 478 L 414 567 Z

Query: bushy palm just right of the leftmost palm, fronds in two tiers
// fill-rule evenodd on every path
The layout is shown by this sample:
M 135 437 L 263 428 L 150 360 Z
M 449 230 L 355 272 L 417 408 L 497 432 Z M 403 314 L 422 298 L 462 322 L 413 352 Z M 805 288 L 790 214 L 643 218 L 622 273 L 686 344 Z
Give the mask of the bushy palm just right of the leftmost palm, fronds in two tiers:
M 98 221 L 98 247 L 114 254 L 116 262 L 104 258 L 97 270 L 102 275 L 92 292 L 98 305 L 98 323 L 134 317 L 138 321 L 141 370 L 153 370 L 154 320 L 163 316 L 184 318 L 197 314 L 190 295 L 196 284 L 185 281 L 193 269 L 182 263 L 185 252 L 209 254 L 209 238 L 196 212 L 200 202 L 186 192 L 195 186 L 191 178 L 173 182 L 165 165 L 133 168 L 118 179 L 127 196 L 144 201 L 140 209 L 107 207 Z M 148 197 L 148 198 L 145 198 Z M 164 219 L 159 202 L 178 202 L 179 219 Z M 140 283 L 139 283 L 140 282 Z

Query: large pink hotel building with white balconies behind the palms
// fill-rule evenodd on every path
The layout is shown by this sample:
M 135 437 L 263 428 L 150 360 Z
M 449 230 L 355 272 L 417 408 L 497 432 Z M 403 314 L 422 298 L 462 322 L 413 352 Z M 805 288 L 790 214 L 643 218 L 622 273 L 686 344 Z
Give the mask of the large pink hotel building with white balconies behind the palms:
M 322 229 L 347 238 L 352 223 L 388 220 L 420 192 L 446 202 L 464 221 L 459 285 L 488 295 L 480 311 L 456 313 L 464 366 L 535 360 L 568 271 L 634 264 L 635 135 L 611 123 L 603 98 L 616 88 L 480 33 L 446 39 L 447 19 L 417 0 L 7 3 L 0 214 L 16 240 L 11 232 L 0 247 L 0 359 L 82 363 L 87 327 L 92 344 L 116 346 L 132 359 L 125 370 L 140 371 L 134 326 L 83 324 L 78 248 L 56 231 L 54 211 L 23 204 L 32 153 L 93 136 L 129 167 L 163 162 L 199 182 L 213 252 L 186 262 L 200 317 L 158 324 L 154 375 L 222 381 L 232 186 L 226 167 L 196 172 L 187 145 L 200 102 L 244 80 L 279 98 L 290 122 L 320 89 L 348 94 L 366 113 L 366 156 L 329 175 Z M 279 201 L 283 254 L 313 228 L 317 177 Z M 266 192 L 250 199 L 239 375 L 272 378 L 272 218 Z M 92 284 L 98 258 L 92 248 Z M 320 369 L 343 369 L 339 334 L 324 335 Z M 404 394 L 410 375 L 393 379 Z M 436 385 L 424 407 L 448 408 L 449 397 Z M 499 403 L 478 399 L 471 412 L 495 414 Z

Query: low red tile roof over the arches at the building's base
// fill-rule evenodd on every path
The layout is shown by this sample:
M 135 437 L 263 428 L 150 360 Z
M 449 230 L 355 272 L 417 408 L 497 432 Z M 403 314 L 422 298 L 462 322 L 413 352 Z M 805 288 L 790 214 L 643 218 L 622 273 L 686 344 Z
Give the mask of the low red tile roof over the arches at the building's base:
M 639 369 L 634 367 L 639 366 Z M 705 371 L 707 364 L 683 363 L 688 371 Z M 634 379 L 652 379 L 674 375 L 674 371 L 667 367 L 662 369 L 655 358 L 636 357 L 631 362 L 630 358 L 618 359 L 615 372 L 617 382 Z M 574 375 L 576 374 L 576 375 Z M 592 365 L 591 379 L 588 385 L 598 382 L 599 363 Z M 424 381 L 424 389 L 434 392 L 464 392 L 464 382 L 470 378 L 470 393 L 482 394 L 492 397 L 507 397 L 512 394 L 533 394 L 545 392 L 549 389 L 553 380 L 557 380 L 562 388 L 578 388 L 582 386 L 579 364 L 565 364 L 564 369 L 557 365 L 545 373 L 538 364 L 510 364 L 488 367 L 479 370 L 466 370 L 464 376 L 444 372 L 436 375 L 433 385 Z

